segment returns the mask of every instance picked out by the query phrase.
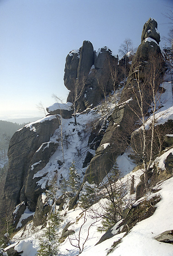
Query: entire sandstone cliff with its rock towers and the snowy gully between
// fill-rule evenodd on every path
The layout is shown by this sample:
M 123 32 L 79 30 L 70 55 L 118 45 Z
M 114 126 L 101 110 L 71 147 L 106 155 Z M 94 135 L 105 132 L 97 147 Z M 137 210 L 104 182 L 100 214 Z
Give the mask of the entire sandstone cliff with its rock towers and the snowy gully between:
M 73 159 L 78 161 L 77 169 L 80 172 L 81 183 L 92 177 L 93 181 L 99 184 L 115 164 L 116 158 L 125 152 L 128 144 L 131 143 L 131 138 L 138 136 L 133 133 L 138 128 L 136 125 L 138 117 L 131 110 L 136 105 L 133 105 L 134 95 L 129 89 L 136 86 L 134 79 L 136 67 L 140 65 L 140 79 L 145 80 L 144 74 L 150 69 L 148 60 L 151 54 L 157 53 L 162 58 L 159 41 L 157 22 L 150 18 L 144 25 L 142 43 L 136 51 L 132 64 L 127 61 L 126 70 L 130 69 L 130 72 L 120 100 L 118 104 L 110 102 L 114 107 L 110 110 L 105 108 L 105 112 L 100 110 L 101 104 L 100 107 L 96 106 L 100 101 L 104 101 L 106 96 L 113 95 L 115 90 L 121 88 L 119 82 L 123 78 L 121 66 L 124 65 L 124 60 L 121 59 L 118 65 L 118 56 L 113 56 L 109 48 L 103 47 L 96 52 L 89 41 L 84 41 L 79 50 L 73 50 L 68 54 L 64 70 L 64 85 L 70 90 L 68 103 L 63 106 L 55 103 L 48 107 L 47 112 L 50 114 L 48 117 L 26 125 L 17 131 L 10 141 L 9 170 L 1 198 L 0 212 L 2 214 L 7 212 L 11 223 L 15 219 L 15 227 L 26 208 L 31 213 L 35 212 L 34 224 L 42 224 L 42 217 L 48 211 L 42 200 L 42 192 L 48 188 L 48 181 L 55 173 L 58 174 L 58 189 L 61 190 L 63 178 L 69 178 L 69 167 Z M 119 80 L 115 83 L 111 74 L 112 69 L 119 75 Z M 164 69 L 160 74 L 161 79 L 163 73 Z M 83 87 L 76 106 L 77 125 L 72 119 L 75 86 Z M 147 86 L 148 84 L 145 94 L 146 112 L 150 100 Z M 60 115 L 62 121 L 58 119 Z M 65 130 L 62 131 L 62 127 Z M 62 134 L 56 133 L 57 130 L 59 132 L 61 130 Z M 62 160 L 62 152 L 59 153 L 62 140 L 65 162 Z M 58 156 L 50 161 L 54 152 Z M 49 166 L 45 168 L 47 164 Z M 52 165 L 54 168 L 51 167 Z M 49 175 L 51 172 L 52 176 Z M 43 180 L 44 186 L 42 186 Z M 71 201 L 70 208 L 73 208 L 77 202 L 79 192 Z M 62 196 L 62 192 L 60 194 Z M 58 205 L 63 205 L 62 201 Z

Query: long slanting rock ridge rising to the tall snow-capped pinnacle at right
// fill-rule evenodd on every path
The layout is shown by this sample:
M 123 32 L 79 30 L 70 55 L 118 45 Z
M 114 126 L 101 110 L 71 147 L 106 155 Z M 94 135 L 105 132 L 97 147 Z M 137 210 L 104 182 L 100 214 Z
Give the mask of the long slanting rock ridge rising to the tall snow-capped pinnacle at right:
M 151 37 L 149 37 L 150 35 Z M 130 129 L 130 127 L 134 129 L 135 123 L 138 120 L 136 114 L 130 110 L 131 107 L 137 108 L 137 105 L 134 106 L 134 95 L 129 90 L 131 86 L 136 86 L 134 80 L 134 68 L 138 67 L 140 64 L 141 72 L 139 72 L 139 76 L 142 80 L 144 78 L 144 73 L 142 70 L 145 69 L 145 72 L 147 72 L 147 70 L 150 69 L 150 66 L 147 63 L 150 55 L 155 53 L 161 56 L 161 50 L 158 46 L 159 42 L 160 35 L 157 32 L 157 22 L 150 18 L 143 27 L 142 43 L 138 47 L 132 61 L 128 80 L 121 94 L 121 100 L 119 101 L 120 105 L 115 107 L 112 115 L 109 117 L 109 126 L 100 142 L 100 146 L 96 150 L 95 155 L 87 168 L 85 176 L 86 180 L 87 176 L 92 173 L 94 181 L 100 183 L 106 172 L 108 173 L 111 170 L 115 163 L 116 157 L 125 150 L 125 145 L 123 145 L 121 138 L 126 141 L 126 146 L 128 143 L 130 143 L 129 138 L 131 137 L 132 133 L 132 129 Z M 161 73 L 160 76 L 163 77 L 163 73 Z M 146 88 L 146 111 L 147 102 L 150 100 L 147 91 L 148 90 Z M 126 100 L 129 99 L 131 100 L 128 104 L 126 104 Z M 107 146 L 105 147 L 105 145 Z

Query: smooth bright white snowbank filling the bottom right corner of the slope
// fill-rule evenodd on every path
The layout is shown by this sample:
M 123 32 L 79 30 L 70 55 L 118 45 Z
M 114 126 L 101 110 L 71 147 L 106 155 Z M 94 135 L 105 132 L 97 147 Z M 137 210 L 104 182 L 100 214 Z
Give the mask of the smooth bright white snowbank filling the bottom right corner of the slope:
M 161 186 L 162 200 L 157 203 L 155 213 L 148 219 L 142 220 L 131 229 L 122 242 L 117 246 L 114 255 L 152 255 L 152 256 L 172 256 L 173 245 L 160 243 L 154 237 L 163 231 L 173 229 L 173 178 L 165 181 Z M 81 255 L 82 256 L 82 255 Z

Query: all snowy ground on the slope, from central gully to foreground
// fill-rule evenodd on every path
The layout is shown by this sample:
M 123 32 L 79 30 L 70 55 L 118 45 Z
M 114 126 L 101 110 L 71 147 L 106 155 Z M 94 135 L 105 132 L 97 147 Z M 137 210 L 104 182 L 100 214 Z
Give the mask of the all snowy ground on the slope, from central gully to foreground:
M 166 89 L 166 92 L 162 95 L 161 98 L 163 107 L 159 109 L 159 115 L 161 113 L 163 115 L 162 119 L 157 119 L 159 123 L 166 122 L 168 119 L 173 119 L 173 99 L 171 94 L 171 84 L 169 82 L 165 82 L 163 86 Z M 112 104 L 110 103 L 110 105 Z M 62 127 L 66 132 L 66 136 L 68 137 L 67 145 L 64 145 L 65 165 L 63 165 L 62 167 L 58 165 L 58 160 L 63 161 L 62 150 L 59 146 L 57 151 L 50 158 L 50 161 L 45 166 L 44 170 L 39 171 L 36 176 L 42 176 L 43 173 L 46 173 L 48 171 L 47 177 L 49 177 L 54 170 L 58 170 L 59 176 L 61 173 L 63 177 L 68 178 L 69 167 L 74 160 L 76 168 L 82 177 L 82 172 L 85 171 L 85 168 L 82 168 L 82 162 L 84 161 L 86 152 L 88 150 L 88 137 L 87 135 L 85 136 L 85 130 L 87 124 L 92 120 L 92 118 L 95 119 L 96 117 L 101 117 L 101 110 L 94 109 L 91 110 L 88 114 L 78 114 L 77 126 L 74 125 L 73 119 L 63 119 Z M 34 132 L 34 123 L 32 125 L 30 124 L 29 127 Z M 56 139 L 58 133 L 59 131 L 56 130 L 51 138 L 52 141 Z M 164 170 L 165 168 L 165 159 L 170 153 L 173 153 L 173 149 L 163 152 L 163 155 L 155 160 L 158 163 L 159 168 L 161 168 L 162 170 Z M 122 182 L 130 182 L 131 177 L 134 176 L 134 186 L 136 187 L 136 185 L 140 181 L 140 176 L 142 175 L 143 171 L 132 171 L 136 165 L 131 161 L 127 153 L 117 158 L 117 164 L 121 171 Z M 39 184 L 41 184 L 42 187 L 45 186 L 47 177 L 44 177 L 39 181 Z M 97 227 L 100 226 L 101 219 L 97 219 L 97 222 L 95 222 L 96 219 L 92 219 L 90 212 L 88 211 L 86 215 L 87 221 L 86 223 L 84 223 L 84 215 L 81 214 L 82 209 L 79 207 L 70 211 L 64 208 L 64 210 L 61 212 L 63 216 L 63 223 L 59 230 L 59 233 L 62 232 L 62 229 L 68 222 L 74 222 L 74 224 L 70 226 L 70 229 L 75 230 L 75 235 L 70 236 L 70 239 L 75 239 L 76 236 L 80 241 L 80 246 L 82 246 L 84 244 L 84 241 L 86 240 L 86 236 L 89 230 L 89 238 L 84 244 L 84 251 L 81 253 L 81 256 L 106 256 L 113 242 L 119 240 L 120 238 L 122 238 L 121 243 L 110 255 L 173 256 L 173 245 L 158 242 L 154 239 L 156 235 L 159 235 L 163 231 L 173 229 L 173 177 L 161 183 L 159 187 L 157 186 L 157 188 L 161 188 L 161 190 L 157 193 L 145 196 L 145 199 L 147 199 L 147 197 L 151 198 L 152 196 L 160 195 L 161 201 L 157 203 L 157 209 L 155 213 L 150 218 L 137 223 L 136 226 L 134 226 L 129 234 L 126 235 L 124 238 L 122 237 L 125 234 L 121 233 L 95 246 L 95 244 L 104 234 L 97 231 Z M 60 195 L 60 191 L 58 195 Z M 130 196 L 130 193 L 128 191 L 126 198 L 127 200 L 131 200 L 132 203 L 135 203 L 135 194 L 133 196 Z M 94 207 L 98 208 L 99 205 L 95 204 Z M 79 234 L 79 230 L 82 224 L 84 225 L 82 226 Z M 44 231 L 44 229 L 41 230 L 40 228 L 41 227 L 34 227 L 32 223 L 27 224 L 25 231 L 21 229 L 21 231 L 19 231 L 13 237 L 13 239 L 11 240 L 13 245 L 10 246 L 15 246 L 16 251 L 23 251 L 23 253 L 21 253 L 21 256 L 35 256 L 39 248 L 39 237 L 42 236 L 42 232 Z M 113 229 L 112 232 L 115 232 L 115 229 Z M 71 242 L 73 243 L 73 245 L 77 245 L 77 240 L 71 240 Z M 73 245 L 71 245 L 70 240 L 66 238 L 66 240 L 59 246 L 58 255 L 77 256 L 79 254 L 79 248 Z

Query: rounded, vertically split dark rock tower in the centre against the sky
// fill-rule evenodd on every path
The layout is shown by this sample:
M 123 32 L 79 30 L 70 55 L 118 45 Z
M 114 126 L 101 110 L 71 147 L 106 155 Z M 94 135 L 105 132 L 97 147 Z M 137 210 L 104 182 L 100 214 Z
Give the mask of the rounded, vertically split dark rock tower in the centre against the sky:
M 73 102 L 75 86 L 82 88 L 84 85 L 78 99 L 78 111 L 95 107 L 104 98 L 103 85 L 106 86 L 106 93 L 113 90 L 110 64 L 117 69 L 118 58 L 112 55 L 110 49 L 104 47 L 95 52 L 89 41 L 84 41 L 79 50 L 68 54 L 64 70 L 64 85 L 70 90 L 67 101 Z

